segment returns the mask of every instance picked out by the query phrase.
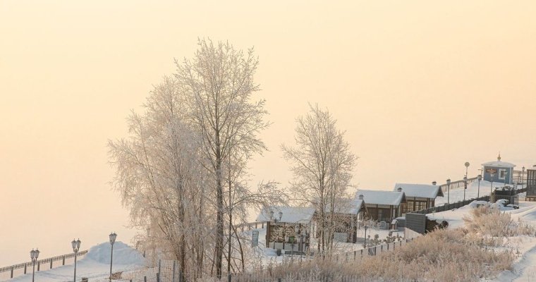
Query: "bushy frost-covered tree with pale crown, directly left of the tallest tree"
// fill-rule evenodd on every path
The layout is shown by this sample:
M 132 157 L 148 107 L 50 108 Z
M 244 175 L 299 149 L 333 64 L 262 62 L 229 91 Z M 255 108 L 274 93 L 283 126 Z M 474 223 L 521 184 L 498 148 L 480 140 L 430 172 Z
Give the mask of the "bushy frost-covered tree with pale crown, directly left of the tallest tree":
M 173 78 L 154 87 L 143 108 L 143 114 L 128 117 L 128 137 L 109 141 L 114 187 L 134 225 L 147 230 L 145 245 L 177 259 L 183 272 L 200 273 L 205 247 L 199 238 L 209 238 L 211 219 L 200 133 L 188 123 L 188 107 Z M 196 255 L 187 261 L 187 253 Z

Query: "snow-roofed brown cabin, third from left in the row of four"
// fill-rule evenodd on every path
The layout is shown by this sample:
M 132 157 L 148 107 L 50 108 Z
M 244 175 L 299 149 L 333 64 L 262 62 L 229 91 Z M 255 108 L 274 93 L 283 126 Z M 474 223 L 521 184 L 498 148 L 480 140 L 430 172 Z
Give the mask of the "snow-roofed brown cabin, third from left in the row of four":
M 386 223 L 401 216 L 401 204 L 406 202 L 404 192 L 398 191 L 358 190 L 355 197 L 365 202 L 369 219 Z

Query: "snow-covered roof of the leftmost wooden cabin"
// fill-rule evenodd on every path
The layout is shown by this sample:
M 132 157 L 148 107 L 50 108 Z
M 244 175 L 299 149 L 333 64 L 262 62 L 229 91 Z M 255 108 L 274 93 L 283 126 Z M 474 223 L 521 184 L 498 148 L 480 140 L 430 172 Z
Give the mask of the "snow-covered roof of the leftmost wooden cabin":
M 270 218 L 270 212 L 274 212 L 273 218 Z M 279 220 L 279 212 L 282 212 Z M 312 207 L 267 207 L 262 209 L 255 221 L 272 221 L 277 219 L 279 222 L 286 223 L 310 223 L 312 215 L 315 214 L 315 208 Z

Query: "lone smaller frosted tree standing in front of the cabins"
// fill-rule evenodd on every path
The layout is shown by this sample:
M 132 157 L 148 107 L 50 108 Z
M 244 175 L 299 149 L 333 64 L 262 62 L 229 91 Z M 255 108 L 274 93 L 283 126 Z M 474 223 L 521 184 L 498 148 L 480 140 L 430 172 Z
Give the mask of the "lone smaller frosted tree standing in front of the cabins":
M 296 147 L 281 145 L 281 149 L 291 162 L 293 189 L 303 191 L 297 200 L 317 210 L 318 249 L 324 253 L 333 247 L 336 205 L 347 197 L 356 157 L 329 111 L 310 105 L 309 113 L 296 123 Z

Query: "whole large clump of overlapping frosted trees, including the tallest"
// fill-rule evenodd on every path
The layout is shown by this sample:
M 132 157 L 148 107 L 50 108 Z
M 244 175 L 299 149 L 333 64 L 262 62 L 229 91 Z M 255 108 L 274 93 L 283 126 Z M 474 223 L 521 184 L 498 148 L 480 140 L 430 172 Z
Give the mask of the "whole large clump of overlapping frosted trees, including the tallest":
M 130 135 L 109 142 L 113 184 L 134 225 L 147 231 L 142 247 L 178 260 L 183 274 L 215 268 L 221 277 L 224 258 L 230 272 L 246 268 L 250 252 L 236 226 L 248 211 L 285 200 L 273 181 L 248 185 L 248 161 L 266 149 L 257 137 L 267 126 L 264 100 L 251 102 L 257 59 L 252 50 L 199 40 L 194 58 L 176 66 L 145 111 L 129 116 Z

